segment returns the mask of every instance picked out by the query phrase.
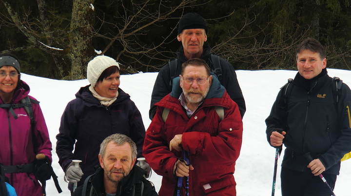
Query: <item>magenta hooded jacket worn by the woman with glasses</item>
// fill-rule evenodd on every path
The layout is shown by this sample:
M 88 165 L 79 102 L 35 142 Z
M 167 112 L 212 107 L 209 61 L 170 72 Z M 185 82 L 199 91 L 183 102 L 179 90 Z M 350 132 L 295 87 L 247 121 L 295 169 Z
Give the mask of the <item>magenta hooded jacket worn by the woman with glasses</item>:
M 11 103 L 18 104 L 28 96 L 29 86 L 20 81 Z M 29 96 L 34 99 L 33 97 Z M 0 104 L 3 101 L 0 98 Z M 51 159 L 51 142 L 44 116 L 39 104 L 32 103 L 35 119 L 34 134 L 39 142 L 38 152 L 34 152 L 31 139 L 30 119 L 23 107 L 15 108 L 15 119 L 7 109 L 0 108 L 0 163 L 2 165 L 22 165 L 32 163 L 37 154 L 44 154 Z M 6 174 L 18 196 L 42 196 L 41 186 L 32 173 Z

